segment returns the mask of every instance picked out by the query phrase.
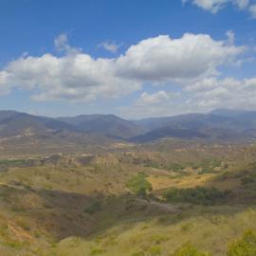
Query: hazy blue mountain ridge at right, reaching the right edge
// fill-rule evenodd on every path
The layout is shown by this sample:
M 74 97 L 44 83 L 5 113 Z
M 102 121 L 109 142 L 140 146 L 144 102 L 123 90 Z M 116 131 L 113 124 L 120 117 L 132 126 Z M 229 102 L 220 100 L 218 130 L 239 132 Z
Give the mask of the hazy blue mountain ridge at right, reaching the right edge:
M 256 138 L 256 112 L 215 110 L 209 114 L 188 114 L 168 118 L 142 119 L 137 123 L 150 131 L 131 137 L 131 141 L 148 142 L 163 137 L 185 139 L 248 140 Z

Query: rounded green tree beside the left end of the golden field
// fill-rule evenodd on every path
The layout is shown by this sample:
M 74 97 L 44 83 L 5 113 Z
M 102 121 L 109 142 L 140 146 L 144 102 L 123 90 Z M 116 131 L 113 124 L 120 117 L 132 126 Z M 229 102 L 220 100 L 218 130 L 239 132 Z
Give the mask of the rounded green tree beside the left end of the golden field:
M 152 191 L 152 185 L 146 180 L 146 175 L 141 173 L 132 177 L 126 186 L 137 195 L 146 195 L 147 192 Z

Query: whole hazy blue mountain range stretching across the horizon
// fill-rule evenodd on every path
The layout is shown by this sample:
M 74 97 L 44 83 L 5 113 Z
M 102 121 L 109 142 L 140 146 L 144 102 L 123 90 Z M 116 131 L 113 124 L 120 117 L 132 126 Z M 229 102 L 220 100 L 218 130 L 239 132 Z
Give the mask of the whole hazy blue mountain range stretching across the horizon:
M 93 138 L 149 142 L 164 137 L 185 139 L 254 139 L 256 112 L 218 109 L 208 114 L 188 114 L 140 120 L 114 115 L 47 118 L 0 111 L 0 137 Z

